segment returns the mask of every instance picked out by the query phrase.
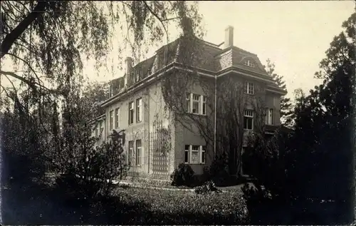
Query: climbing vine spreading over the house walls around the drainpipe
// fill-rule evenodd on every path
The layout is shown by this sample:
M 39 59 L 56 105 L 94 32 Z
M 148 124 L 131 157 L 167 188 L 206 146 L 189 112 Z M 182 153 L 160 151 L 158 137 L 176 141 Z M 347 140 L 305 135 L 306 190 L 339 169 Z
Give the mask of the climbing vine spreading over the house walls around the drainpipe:
M 199 53 L 198 53 L 199 54 Z M 263 129 L 264 116 L 263 89 L 255 88 L 253 97 L 244 93 L 244 85 L 231 76 L 221 78 L 214 90 L 214 79 L 197 76 L 196 73 L 185 71 L 172 71 L 162 79 L 162 92 L 167 108 L 173 111 L 177 125 L 186 128 L 193 133 L 199 133 L 206 141 L 210 150 L 214 148 L 216 139 L 216 152 L 208 152 L 211 160 L 219 160 L 224 163 L 216 163 L 222 168 L 228 167 L 229 175 L 241 175 L 241 152 L 243 144 L 248 136 L 244 130 L 244 111 L 246 108 L 253 110 L 253 118 L 256 120 L 256 129 Z M 199 87 L 206 96 L 206 117 L 194 113 L 187 113 L 187 98 L 184 93 L 190 93 L 193 87 Z M 214 106 L 214 93 L 216 106 Z M 219 109 L 216 118 L 216 133 L 214 130 L 214 108 Z M 224 156 L 224 158 L 221 158 Z M 219 169 L 224 170 L 224 169 Z M 216 170 L 214 170 L 216 171 Z M 218 172 L 216 172 L 218 173 Z M 220 173 L 220 172 L 219 172 Z M 216 176 L 216 175 L 214 175 Z

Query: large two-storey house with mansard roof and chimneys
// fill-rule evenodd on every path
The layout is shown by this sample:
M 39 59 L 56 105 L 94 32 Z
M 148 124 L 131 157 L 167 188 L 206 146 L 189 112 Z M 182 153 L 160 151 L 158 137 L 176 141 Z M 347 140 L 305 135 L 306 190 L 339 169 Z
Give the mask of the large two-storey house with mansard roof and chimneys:
M 219 83 L 231 76 L 244 84 L 244 93 L 250 96 L 258 87 L 264 93 L 266 127 L 273 131 L 280 125 L 280 98 L 286 95 L 286 91 L 276 86 L 256 54 L 234 46 L 233 39 L 234 28 L 229 26 L 225 30 L 225 41 L 220 45 L 199 40 L 201 63 L 191 69 L 183 67 L 179 60 L 184 51 L 182 38 L 162 46 L 155 56 L 135 66 L 132 58 L 125 59 L 125 75 L 110 82 L 110 95 L 101 103 L 105 114 L 96 119 L 93 135 L 100 136 L 100 143 L 108 140 L 112 130 L 125 130 L 125 152 L 131 175 L 168 179 L 179 163 L 191 165 L 199 175 L 203 173 L 204 166 L 211 163 L 212 155 L 209 153 L 214 153 L 216 143 L 207 145 L 197 127 L 184 127 L 172 117 L 176 112 L 167 108 L 160 78 L 172 76 L 172 73 L 195 71 L 199 78 L 213 87 L 219 87 Z M 219 123 L 216 114 L 219 114 L 220 109 L 217 108 L 221 101 L 221 97 L 216 95 L 219 89 L 206 93 L 198 83 L 187 90 L 182 93 L 187 114 L 211 119 L 216 133 L 216 123 Z M 244 111 L 245 130 L 253 130 L 253 117 L 253 110 Z M 166 150 L 157 151 L 157 147 L 162 146 L 159 138 L 167 133 L 169 138 L 164 138 L 169 140 Z

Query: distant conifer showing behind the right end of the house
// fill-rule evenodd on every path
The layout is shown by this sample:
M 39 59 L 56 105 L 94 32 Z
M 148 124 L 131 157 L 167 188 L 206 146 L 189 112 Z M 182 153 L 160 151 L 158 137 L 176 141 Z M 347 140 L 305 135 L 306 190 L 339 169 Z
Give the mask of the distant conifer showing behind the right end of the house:
M 279 88 L 282 88 L 284 91 L 287 91 L 286 82 L 283 80 L 283 76 L 274 73 L 275 71 L 275 64 L 271 63 L 270 59 L 267 59 L 267 73 L 268 75 L 272 76 L 273 81 L 277 84 Z M 290 102 L 290 98 L 286 96 L 281 96 L 281 123 L 282 125 L 286 125 L 287 127 L 291 127 L 293 124 L 293 120 L 291 118 L 292 112 L 292 103 Z

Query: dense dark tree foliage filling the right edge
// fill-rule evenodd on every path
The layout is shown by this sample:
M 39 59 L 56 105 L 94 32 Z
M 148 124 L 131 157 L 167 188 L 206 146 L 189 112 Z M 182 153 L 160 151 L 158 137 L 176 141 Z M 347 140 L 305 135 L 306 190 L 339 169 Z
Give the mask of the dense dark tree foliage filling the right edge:
M 278 133 L 271 140 L 258 137 L 246 151 L 251 175 L 271 192 L 274 202 L 283 201 L 295 210 L 303 205 L 305 213 L 311 215 L 304 217 L 309 222 L 303 224 L 352 221 L 355 18 L 352 14 L 343 24 L 345 32 L 334 38 L 320 63 L 323 72 L 316 75 L 323 83 L 308 95 L 298 93 L 294 133 Z M 332 200 L 332 204 L 326 207 L 325 200 Z M 315 205 L 318 212 L 313 212 Z M 290 212 L 296 217 L 295 210 Z M 332 219 L 327 221 L 324 216 L 330 212 Z

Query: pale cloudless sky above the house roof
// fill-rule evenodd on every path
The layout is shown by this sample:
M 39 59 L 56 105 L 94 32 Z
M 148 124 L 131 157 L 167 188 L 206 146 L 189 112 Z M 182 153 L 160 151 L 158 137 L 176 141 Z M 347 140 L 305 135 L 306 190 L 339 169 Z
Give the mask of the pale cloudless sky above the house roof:
M 342 31 L 342 22 L 354 10 L 353 1 L 199 1 L 204 40 L 219 44 L 226 27 L 234 26 L 234 46 L 256 53 L 263 65 L 270 58 L 292 98 L 296 88 L 308 92 L 321 83 L 313 78 L 314 73 L 333 37 Z M 169 27 L 169 33 L 170 41 L 179 35 L 174 27 Z M 147 56 L 156 49 L 152 46 Z M 92 70 L 87 69 L 88 77 L 96 81 L 123 75 L 122 71 L 115 76 L 90 75 Z

